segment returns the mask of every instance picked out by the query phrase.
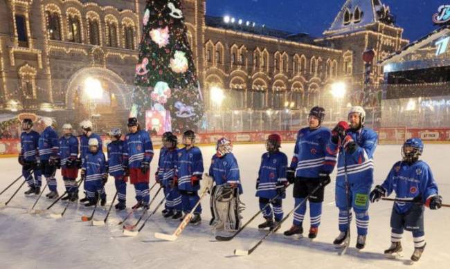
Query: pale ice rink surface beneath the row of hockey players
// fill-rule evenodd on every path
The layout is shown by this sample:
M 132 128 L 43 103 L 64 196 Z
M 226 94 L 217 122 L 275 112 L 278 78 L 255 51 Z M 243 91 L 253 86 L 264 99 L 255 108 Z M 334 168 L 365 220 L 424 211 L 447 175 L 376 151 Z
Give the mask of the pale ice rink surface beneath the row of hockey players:
M 201 147 L 204 155 L 205 169 L 209 168 L 213 147 Z M 255 179 L 257 177 L 260 156 L 264 145 L 235 145 L 234 154 L 240 165 L 244 194 L 241 197 L 246 204 L 244 222 L 258 211 L 258 199 L 255 198 Z M 294 144 L 282 146 L 290 159 Z M 156 158 L 159 152 L 156 151 Z M 400 158 L 399 145 L 384 145 L 377 148 L 375 154 L 375 184 L 384 180 L 393 163 Z M 423 159 L 426 160 L 438 181 L 444 202 L 450 201 L 450 185 L 448 182 L 450 145 L 426 145 Z M 156 161 L 152 162 L 155 171 Z M 16 158 L 0 159 L 0 189 L 3 189 L 16 178 L 19 165 Z M 153 174 L 153 173 L 152 173 Z M 57 172 L 57 183 L 60 194 L 64 185 Z M 334 174 L 333 174 L 334 178 Z M 334 179 L 333 179 L 334 181 Z M 154 183 L 152 177 L 151 182 Z M 256 243 L 263 232 L 256 228 L 263 221 L 262 216 L 253 221 L 233 241 L 217 242 L 213 232 L 208 228 L 210 219 L 208 198 L 202 205 L 203 223 L 197 227 L 189 227 L 177 241 L 160 241 L 154 232 L 172 233 L 178 221 L 163 219 L 158 212 L 147 223 L 142 232 L 135 238 L 122 235 L 117 225 L 126 212 L 112 212 L 105 227 L 93 227 L 80 220 L 83 214 L 91 210 L 83 206 L 71 205 L 63 219 L 51 219 L 47 214 L 30 215 L 27 210 L 33 205 L 35 198 L 26 198 L 21 189 L 8 207 L 0 209 L 0 268 L 406 268 L 413 252 L 411 233 L 406 232 L 402 241 L 404 258 L 391 260 L 384 257 L 383 251 L 390 245 L 390 210 L 392 203 L 380 201 L 370 207 L 370 227 L 366 249 L 357 252 L 354 248 L 356 236 L 352 237 L 348 254 L 338 256 L 332 241 L 339 233 L 338 210 L 334 205 L 334 182 L 325 190 L 322 224 L 318 237 L 314 242 L 309 239 L 285 239 L 282 232 L 291 226 L 291 218 L 283 223 L 279 232 L 267 239 L 249 257 L 235 257 L 235 248 L 248 249 Z M 14 192 L 8 189 L 0 196 L 5 202 Z M 46 191 L 47 192 L 47 191 Z M 46 193 L 45 192 L 45 193 Z M 114 196 L 114 181 L 107 183 L 108 203 Z M 127 206 L 134 205 L 134 189 L 127 188 Z M 151 194 L 156 192 L 156 188 Z M 159 194 L 158 200 L 163 196 Z M 293 208 L 291 189 L 285 199 L 285 212 Z M 37 208 L 43 209 L 51 201 L 42 197 Z M 155 203 L 156 204 L 156 203 Z M 53 207 L 52 212 L 60 212 L 64 203 Z M 96 219 L 103 219 L 106 210 L 96 214 Z M 136 214 L 138 217 L 138 214 Z M 450 229 L 445 223 L 450 222 L 450 210 L 426 210 L 425 232 L 426 250 L 422 259 L 415 263 L 416 268 L 449 268 L 450 265 Z M 305 235 L 309 229 L 309 217 L 303 224 Z M 352 234 L 356 234 L 354 222 Z

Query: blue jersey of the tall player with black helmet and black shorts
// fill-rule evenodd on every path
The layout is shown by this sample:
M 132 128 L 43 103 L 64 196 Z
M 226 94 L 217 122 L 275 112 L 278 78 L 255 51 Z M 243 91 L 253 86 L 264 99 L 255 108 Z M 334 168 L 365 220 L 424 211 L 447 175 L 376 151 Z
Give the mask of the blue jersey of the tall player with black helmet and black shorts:
M 291 161 L 297 177 L 318 178 L 320 172 L 331 174 L 336 165 L 337 146 L 330 138 L 331 131 L 325 127 L 298 131 Z

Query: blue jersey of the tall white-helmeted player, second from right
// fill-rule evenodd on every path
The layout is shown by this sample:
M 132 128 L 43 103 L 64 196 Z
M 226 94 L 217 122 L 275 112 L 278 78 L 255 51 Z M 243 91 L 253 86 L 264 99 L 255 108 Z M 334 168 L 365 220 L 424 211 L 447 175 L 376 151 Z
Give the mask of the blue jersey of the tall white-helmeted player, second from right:
M 348 181 L 351 184 L 362 184 L 369 186 L 373 183 L 373 155 L 377 147 L 377 133 L 372 129 L 363 127 L 358 131 L 348 131 L 357 150 L 353 154 L 345 152 Z M 339 151 L 338 174 L 336 184 L 345 185 L 343 149 Z

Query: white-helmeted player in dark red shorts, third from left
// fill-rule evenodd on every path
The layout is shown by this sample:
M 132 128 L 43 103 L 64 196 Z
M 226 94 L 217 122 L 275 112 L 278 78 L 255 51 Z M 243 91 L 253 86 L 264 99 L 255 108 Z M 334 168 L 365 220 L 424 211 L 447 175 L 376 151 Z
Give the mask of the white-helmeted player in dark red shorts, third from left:
M 78 176 L 78 138 L 72 134 L 72 125 L 62 125 L 62 137 L 60 138 L 61 174 L 66 186 L 67 196 L 61 200 L 78 201 L 78 187 L 75 179 Z

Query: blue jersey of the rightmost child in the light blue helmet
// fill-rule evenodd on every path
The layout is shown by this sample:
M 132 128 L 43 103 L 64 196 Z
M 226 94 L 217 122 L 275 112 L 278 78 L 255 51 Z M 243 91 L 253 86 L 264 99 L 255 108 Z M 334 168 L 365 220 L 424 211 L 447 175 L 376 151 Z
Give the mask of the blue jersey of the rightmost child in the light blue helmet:
M 422 203 L 425 203 L 426 199 L 438 194 L 438 185 L 433 178 L 431 168 L 422 160 L 413 165 L 402 161 L 395 163 L 381 187 L 386 190 L 387 196 L 395 192 L 395 198 L 405 201 L 420 197 Z M 412 203 L 395 202 L 394 206 L 395 210 L 402 214 L 412 205 Z

